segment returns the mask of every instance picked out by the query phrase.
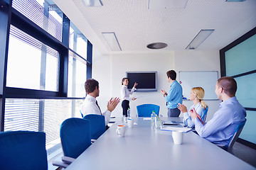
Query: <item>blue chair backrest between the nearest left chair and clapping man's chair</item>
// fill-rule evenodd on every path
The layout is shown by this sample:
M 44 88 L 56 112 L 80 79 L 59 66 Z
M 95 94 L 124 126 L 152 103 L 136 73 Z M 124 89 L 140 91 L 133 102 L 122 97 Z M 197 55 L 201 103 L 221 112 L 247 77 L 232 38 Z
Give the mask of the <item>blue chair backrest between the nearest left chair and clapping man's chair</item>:
M 65 157 L 77 158 L 91 145 L 90 120 L 68 118 L 60 125 L 60 140 Z

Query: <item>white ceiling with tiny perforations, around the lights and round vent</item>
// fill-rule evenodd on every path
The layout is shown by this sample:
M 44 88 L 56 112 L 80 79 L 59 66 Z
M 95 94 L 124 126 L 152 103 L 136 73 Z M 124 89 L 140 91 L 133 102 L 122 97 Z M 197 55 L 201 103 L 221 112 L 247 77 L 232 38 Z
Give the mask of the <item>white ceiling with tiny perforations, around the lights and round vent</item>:
M 215 29 L 198 50 L 220 50 L 256 27 L 256 0 L 188 0 L 184 9 L 154 10 L 149 0 L 102 0 L 98 7 L 53 1 L 102 54 L 112 53 L 102 32 L 114 32 L 122 52 L 150 52 L 151 42 L 168 44 L 159 51 L 185 50 L 201 29 Z

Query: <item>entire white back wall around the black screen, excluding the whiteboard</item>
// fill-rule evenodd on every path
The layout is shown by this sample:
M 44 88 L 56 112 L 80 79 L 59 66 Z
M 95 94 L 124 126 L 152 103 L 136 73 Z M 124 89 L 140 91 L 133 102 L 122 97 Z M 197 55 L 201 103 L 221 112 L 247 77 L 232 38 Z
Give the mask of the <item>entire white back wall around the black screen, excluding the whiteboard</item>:
M 100 55 L 97 50 L 93 51 L 92 77 L 100 82 L 100 96 L 97 98 L 102 111 L 107 107 L 107 101 L 111 97 L 120 97 L 121 80 L 126 72 L 133 71 L 156 71 L 156 92 L 134 92 L 133 96 L 144 96 L 130 102 L 132 115 L 137 114 L 136 106 L 142 103 L 154 103 L 160 106 L 160 114 L 167 116 L 166 102 L 160 90 L 169 90 L 170 84 L 166 80 L 166 72 L 170 69 L 179 71 L 218 71 L 220 73 L 219 52 L 183 50 L 176 52 L 153 52 Z M 178 79 L 178 77 L 177 77 Z M 220 101 L 206 101 L 209 106 L 207 120 L 212 118 L 218 110 Z M 188 108 L 191 101 L 185 101 Z M 112 113 L 113 116 L 122 116 L 121 104 Z M 182 116 L 182 115 L 181 115 Z

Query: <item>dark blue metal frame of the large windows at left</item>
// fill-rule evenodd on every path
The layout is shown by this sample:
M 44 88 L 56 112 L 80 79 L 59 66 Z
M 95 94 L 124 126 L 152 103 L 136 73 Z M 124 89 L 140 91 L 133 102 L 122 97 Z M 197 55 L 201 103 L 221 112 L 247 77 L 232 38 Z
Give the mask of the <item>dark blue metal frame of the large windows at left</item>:
M 12 6 L 12 0 L 0 0 L 0 26 L 3 33 L 3 40 L 0 42 L 0 62 L 4 63 L 0 70 L 0 131 L 4 131 L 4 111 L 6 98 L 37 98 L 37 99 L 83 99 L 68 97 L 68 57 L 69 51 L 73 52 L 80 60 L 87 65 L 87 78 L 92 77 L 92 44 L 87 40 L 87 59 L 81 57 L 77 52 L 69 47 L 70 19 L 63 13 L 62 41 L 50 35 L 46 30 L 33 23 L 30 19 L 23 16 Z M 13 25 L 24 33 L 43 42 L 59 52 L 58 58 L 58 91 L 45 91 L 35 89 L 22 89 L 18 87 L 6 86 L 7 60 L 9 50 L 9 32 Z M 89 71 L 88 71 L 89 70 Z

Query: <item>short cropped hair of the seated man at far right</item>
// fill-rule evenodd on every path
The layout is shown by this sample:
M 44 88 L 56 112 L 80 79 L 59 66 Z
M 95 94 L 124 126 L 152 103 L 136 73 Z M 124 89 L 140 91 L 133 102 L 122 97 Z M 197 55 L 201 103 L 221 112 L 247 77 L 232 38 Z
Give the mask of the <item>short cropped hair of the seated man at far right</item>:
M 235 92 L 238 89 L 238 84 L 233 77 L 221 77 L 218 79 L 217 84 L 223 88 L 225 94 L 230 97 L 235 96 Z

